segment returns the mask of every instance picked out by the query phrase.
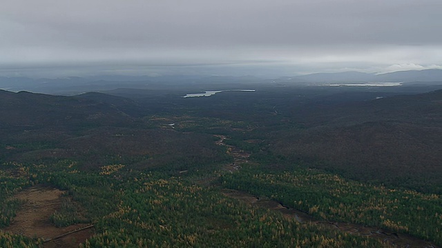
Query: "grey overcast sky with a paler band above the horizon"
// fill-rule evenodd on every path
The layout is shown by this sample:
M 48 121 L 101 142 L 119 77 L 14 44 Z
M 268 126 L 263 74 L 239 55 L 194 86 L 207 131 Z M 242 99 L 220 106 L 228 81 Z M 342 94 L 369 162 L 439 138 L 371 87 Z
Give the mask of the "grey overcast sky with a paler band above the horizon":
M 441 0 L 4 0 L 0 75 L 442 68 Z

